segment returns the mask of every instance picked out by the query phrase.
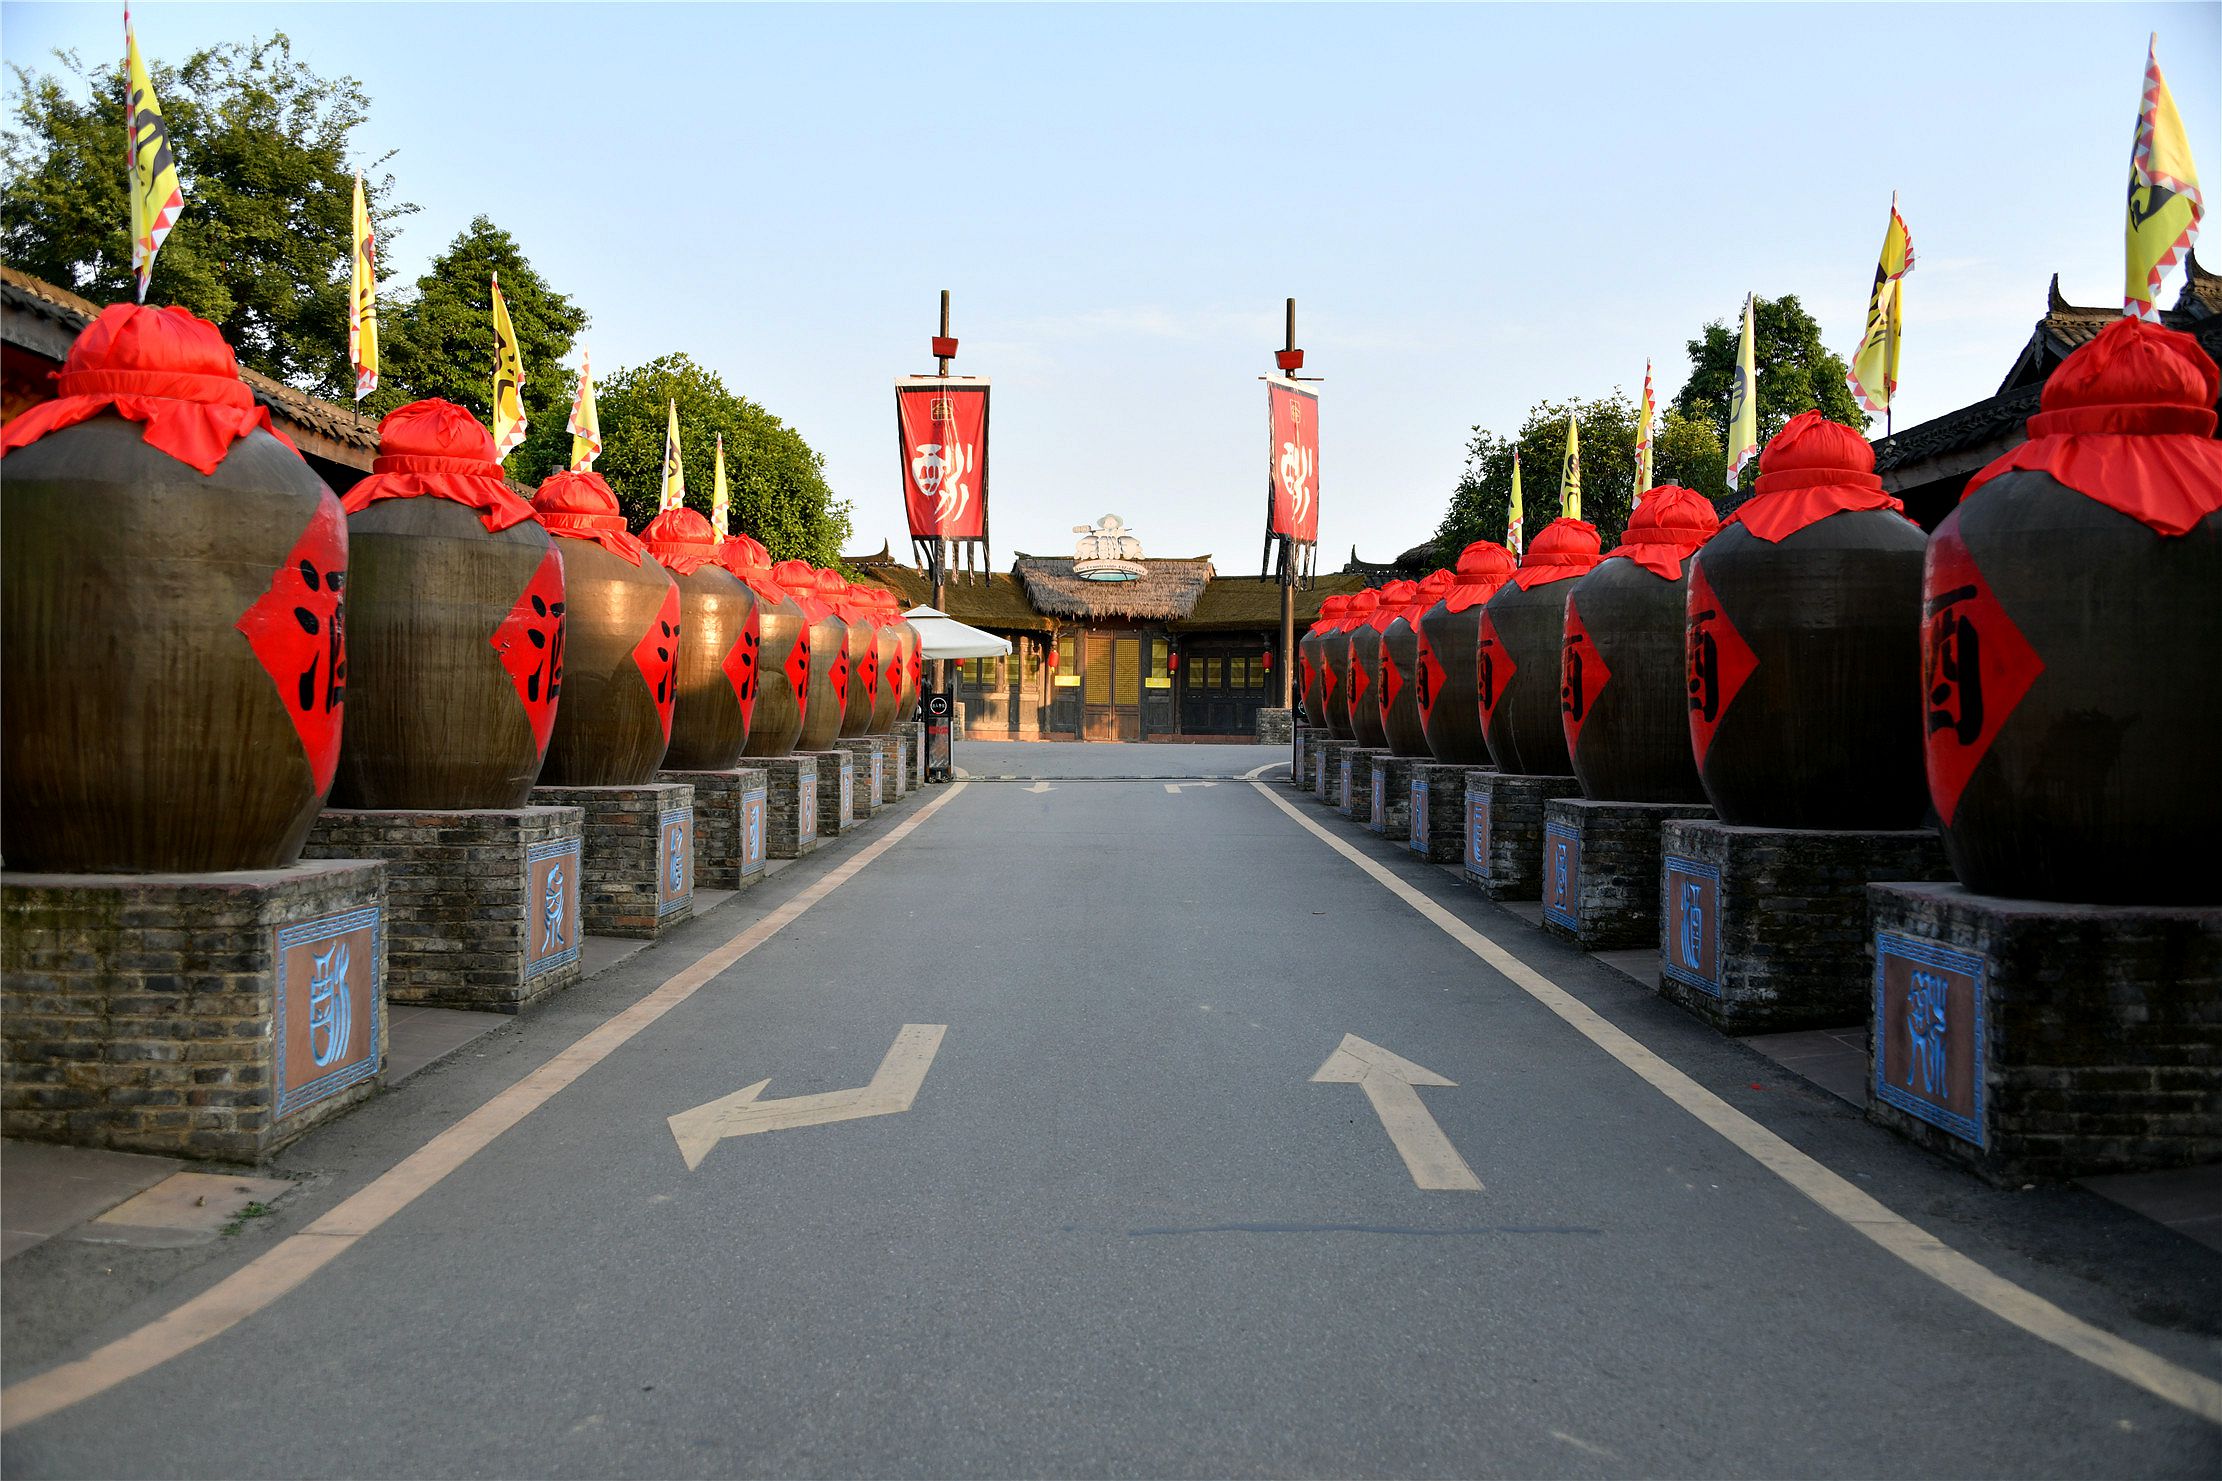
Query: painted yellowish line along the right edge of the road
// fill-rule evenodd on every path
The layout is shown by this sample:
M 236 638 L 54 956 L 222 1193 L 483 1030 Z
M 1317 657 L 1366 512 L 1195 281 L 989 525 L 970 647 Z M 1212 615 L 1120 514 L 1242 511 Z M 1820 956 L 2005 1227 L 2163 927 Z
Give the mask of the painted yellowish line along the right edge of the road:
M 1502 973 L 1515 988 L 1533 997 L 1584 1039 L 1649 1081 L 1653 1090 L 1711 1126 L 1715 1132 L 1735 1144 L 1738 1150 L 1746 1152 L 1784 1183 L 1849 1223 L 1855 1232 L 1875 1241 L 1929 1279 L 1960 1292 L 1986 1312 L 2011 1321 L 2031 1337 L 2049 1341 L 2062 1352 L 2073 1352 L 2086 1363 L 2104 1368 L 2106 1372 L 2135 1383 L 2155 1399 L 2166 1399 L 2169 1403 L 2189 1410 L 2209 1423 L 2222 1423 L 2222 1383 L 2191 1372 L 2189 1368 L 2180 1368 L 2158 1352 L 2140 1348 L 2133 1341 L 2124 1341 L 2113 1332 L 2104 1332 L 2082 1317 L 2071 1317 L 2044 1297 L 2024 1290 L 1991 1268 L 1960 1255 L 1911 1219 L 1898 1217 L 1873 1197 L 1860 1192 L 1860 1188 L 1851 1181 L 1820 1166 L 1789 1141 L 1653 1055 L 1649 1048 L 1609 1024 L 1527 961 L 1511 955 L 1480 930 L 1473 930 L 1433 899 L 1398 879 L 1389 868 L 1358 853 L 1344 839 L 1298 813 L 1289 802 L 1275 797 L 1269 786 L 1262 782 L 1251 782 L 1251 786 L 1255 786 L 1258 793 L 1275 808 L 1309 828 L 1329 848 L 1373 875 L 1384 890 L 1418 910 L 1438 930 Z

